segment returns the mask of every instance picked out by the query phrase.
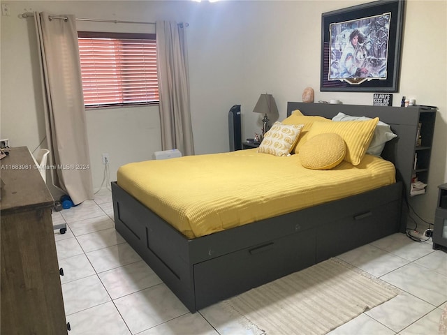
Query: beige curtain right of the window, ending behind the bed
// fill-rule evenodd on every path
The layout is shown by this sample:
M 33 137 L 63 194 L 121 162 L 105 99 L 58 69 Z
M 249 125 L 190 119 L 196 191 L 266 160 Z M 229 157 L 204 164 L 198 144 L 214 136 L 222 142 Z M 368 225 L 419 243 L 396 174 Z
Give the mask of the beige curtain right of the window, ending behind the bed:
M 161 145 L 194 154 L 189 106 L 188 54 L 185 24 L 156 22 L 156 52 L 159 77 Z

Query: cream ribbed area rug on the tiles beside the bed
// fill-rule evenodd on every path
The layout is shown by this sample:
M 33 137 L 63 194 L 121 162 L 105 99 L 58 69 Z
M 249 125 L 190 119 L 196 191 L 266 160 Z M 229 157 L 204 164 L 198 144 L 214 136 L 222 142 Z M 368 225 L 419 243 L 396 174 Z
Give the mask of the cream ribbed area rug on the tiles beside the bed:
M 223 301 L 254 334 L 326 334 L 400 291 L 331 258 Z

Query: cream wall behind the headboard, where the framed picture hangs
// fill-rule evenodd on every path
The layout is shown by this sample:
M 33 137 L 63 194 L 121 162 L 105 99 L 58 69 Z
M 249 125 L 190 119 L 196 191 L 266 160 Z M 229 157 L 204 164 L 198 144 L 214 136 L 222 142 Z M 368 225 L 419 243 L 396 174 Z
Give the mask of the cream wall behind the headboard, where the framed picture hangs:
M 261 117 L 250 113 L 260 93 L 273 94 L 280 117 L 286 102 L 301 101 L 305 87 L 313 87 L 315 101 L 337 98 L 346 104 L 372 105 L 373 93 L 320 92 L 321 13 L 371 1 L 247 1 L 244 16 L 245 137 L 260 131 Z M 402 96 L 439 107 L 434 133 L 427 194 L 411 198 L 416 212 L 434 218 L 437 186 L 447 182 L 447 1 L 406 1 L 402 40 L 400 90 Z

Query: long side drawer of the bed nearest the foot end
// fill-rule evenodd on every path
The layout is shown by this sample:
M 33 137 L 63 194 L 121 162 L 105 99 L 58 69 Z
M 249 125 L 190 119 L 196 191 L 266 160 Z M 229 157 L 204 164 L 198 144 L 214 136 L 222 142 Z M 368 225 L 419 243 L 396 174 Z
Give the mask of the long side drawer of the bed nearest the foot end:
M 315 230 L 229 253 L 194 265 L 196 308 L 233 297 L 315 263 Z

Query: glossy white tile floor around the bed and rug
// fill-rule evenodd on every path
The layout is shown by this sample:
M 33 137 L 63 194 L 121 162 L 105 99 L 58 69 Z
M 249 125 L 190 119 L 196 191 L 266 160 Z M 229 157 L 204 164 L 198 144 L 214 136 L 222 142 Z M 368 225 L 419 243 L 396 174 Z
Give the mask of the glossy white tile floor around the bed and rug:
M 191 314 L 115 231 L 112 196 L 53 213 L 71 335 L 251 334 L 220 304 Z M 338 258 L 402 290 L 330 334 L 435 335 L 447 304 L 447 253 L 404 234 L 374 241 Z

